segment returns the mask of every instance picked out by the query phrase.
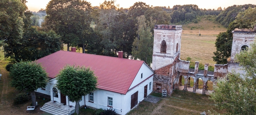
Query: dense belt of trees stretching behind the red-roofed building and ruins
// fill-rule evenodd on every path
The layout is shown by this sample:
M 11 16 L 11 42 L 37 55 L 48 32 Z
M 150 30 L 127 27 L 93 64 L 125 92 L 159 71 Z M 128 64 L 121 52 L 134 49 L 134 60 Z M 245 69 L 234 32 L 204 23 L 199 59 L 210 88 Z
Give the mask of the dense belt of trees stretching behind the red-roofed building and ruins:
M 25 0 L 0 2 L 0 39 L 4 40 L 1 46 L 4 46 L 5 57 L 10 57 L 13 63 L 44 57 L 63 49 L 64 43 L 68 51 L 72 46 L 81 48 L 83 53 L 96 55 L 116 57 L 117 51 L 123 51 L 124 58 L 138 58 L 150 65 L 154 25 L 198 23 L 202 16 L 211 17 L 229 31 L 225 35 L 220 33 L 216 40 L 218 42 L 219 38 L 231 38 L 232 35 L 227 33 L 231 33 L 234 27 L 251 28 L 254 19 L 244 26 L 236 23 L 236 26 L 230 27 L 230 23 L 235 21 L 239 13 L 254 13 L 256 7 L 245 4 L 223 9 L 199 9 L 193 4 L 152 7 L 144 2 L 136 2 L 124 9 L 114 0 L 105 0 L 96 7 L 83 0 L 51 0 L 46 9 L 31 12 L 25 3 Z M 217 63 L 226 61 L 219 61 L 227 56 L 221 57 L 223 51 L 218 51 L 218 47 L 227 44 L 230 46 L 230 41 L 216 45 L 214 54 Z

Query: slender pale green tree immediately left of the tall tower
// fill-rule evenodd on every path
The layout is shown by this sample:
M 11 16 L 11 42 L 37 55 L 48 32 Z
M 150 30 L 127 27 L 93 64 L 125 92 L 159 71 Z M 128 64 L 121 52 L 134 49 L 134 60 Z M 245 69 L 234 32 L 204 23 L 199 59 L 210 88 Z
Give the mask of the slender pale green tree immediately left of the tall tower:
M 150 18 L 150 21 L 146 21 L 145 16 L 139 16 L 138 18 L 138 37 L 136 37 L 133 42 L 133 57 L 134 59 L 140 59 L 145 61 L 148 65 L 152 63 L 152 55 L 153 55 L 153 35 L 151 30 L 154 27 L 154 23 Z

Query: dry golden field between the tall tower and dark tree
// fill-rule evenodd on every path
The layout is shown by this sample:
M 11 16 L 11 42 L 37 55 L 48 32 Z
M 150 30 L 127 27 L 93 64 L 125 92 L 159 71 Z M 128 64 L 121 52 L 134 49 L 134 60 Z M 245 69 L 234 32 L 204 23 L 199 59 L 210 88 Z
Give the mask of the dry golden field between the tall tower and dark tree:
M 182 28 L 180 58 L 185 60 L 187 57 L 191 57 L 192 62 L 197 61 L 203 65 L 209 63 L 214 66 L 216 62 L 212 60 L 212 57 L 214 56 L 213 52 L 216 51 L 216 36 L 220 32 L 226 32 L 227 28 L 205 19 L 201 19 L 198 23 L 182 25 Z M 199 36 L 199 30 L 201 36 Z

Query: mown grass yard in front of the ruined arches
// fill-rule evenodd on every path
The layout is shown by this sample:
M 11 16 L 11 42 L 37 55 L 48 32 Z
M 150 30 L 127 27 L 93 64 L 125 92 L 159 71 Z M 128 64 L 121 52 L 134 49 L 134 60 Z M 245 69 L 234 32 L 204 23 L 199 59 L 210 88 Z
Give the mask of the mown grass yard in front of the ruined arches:
M 162 98 L 161 94 L 151 93 L 151 96 Z M 158 103 L 142 101 L 128 115 L 200 115 L 203 111 L 216 110 L 209 96 L 174 90 L 172 96 L 162 98 Z

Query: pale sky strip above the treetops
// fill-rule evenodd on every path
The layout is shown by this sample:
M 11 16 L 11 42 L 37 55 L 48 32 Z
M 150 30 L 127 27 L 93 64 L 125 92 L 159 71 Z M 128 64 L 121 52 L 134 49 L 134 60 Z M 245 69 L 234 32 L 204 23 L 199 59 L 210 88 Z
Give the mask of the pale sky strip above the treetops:
M 27 0 L 27 7 L 30 11 L 37 12 L 40 9 L 45 9 L 50 0 Z M 92 6 L 99 6 L 104 0 L 86 0 Z M 195 4 L 202 9 L 217 9 L 218 7 L 229 7 L 232 5 L 256 4 L 256 0 L 115 0 L 120 8 L 129 8 L 135 2 L 145 2 L 147 5 L 155 6 L 170 6 Z

